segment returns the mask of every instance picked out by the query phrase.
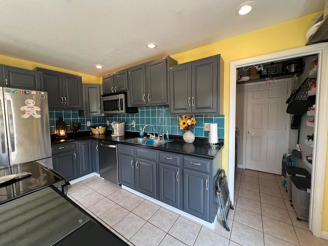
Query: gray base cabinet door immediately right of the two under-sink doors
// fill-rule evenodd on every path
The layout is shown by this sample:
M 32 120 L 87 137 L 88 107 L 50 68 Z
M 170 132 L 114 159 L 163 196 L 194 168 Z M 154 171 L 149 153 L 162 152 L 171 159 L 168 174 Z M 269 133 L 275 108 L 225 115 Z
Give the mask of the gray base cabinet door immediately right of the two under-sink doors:
M 159 200 L 180 209 L 180 173 L 178 167 L 159 163 Z

